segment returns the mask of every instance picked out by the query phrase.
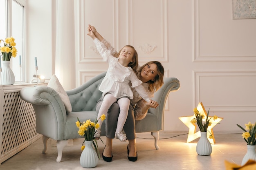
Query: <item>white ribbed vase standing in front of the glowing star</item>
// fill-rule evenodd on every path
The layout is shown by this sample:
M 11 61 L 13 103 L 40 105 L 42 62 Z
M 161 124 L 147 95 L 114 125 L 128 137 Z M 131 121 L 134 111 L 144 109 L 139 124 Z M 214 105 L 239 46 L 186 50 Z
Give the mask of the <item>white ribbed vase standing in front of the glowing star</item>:
M 201 132 L 201 137 L 196 145 L 196 152 L 198 155 L 211 155 L 212 147 L 210 141 L 207 138 L 207 132 Z

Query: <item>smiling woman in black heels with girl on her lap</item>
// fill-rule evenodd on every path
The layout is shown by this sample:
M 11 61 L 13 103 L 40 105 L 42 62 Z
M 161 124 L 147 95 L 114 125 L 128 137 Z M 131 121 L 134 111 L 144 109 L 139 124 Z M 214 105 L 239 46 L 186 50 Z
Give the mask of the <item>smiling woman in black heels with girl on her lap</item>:
M 88 31 L 92 31 L 94 35 L 103 42 L 108 49 L 111 49 L 112 55 L 117 56 L 117 51 L 105 40 L 103 37 L 96 31 L 94 26 L 89 25 Z M 160 62 L 153 61 L 148 62 L 141 66 L 138 69 L 138 78 L 143 82 L 145 90 L 148 95 L 153 97 L 153 93 L 157 91 L 163 85 L 163 77 L 164 77 L 164 68 Z M 130 161 L 137 161 L 137 152 L 135 147 L 135 118 L 143 119 L 149 108 L 156 108 L 158 106 L 157 102 L 146 102 L 142 99 L 135 89 L 132 89 L 133 99 L 131 100 L 131 105 L 129 107 L 128 116 L 126 119 L 126 123 L 124 124 L 124 131 L 126 133 L 126 137 L 129 141 L 127 146 L 128 159 Z M 102 104 L 102 99 L 97 103 L 96 111 L 99 111 L 99 108 Z M 136 105 L 136 106 L 135 106 Z M 117 103 L 112 104 L 110 109 L 108 110 L 106 116 L 106 146 L 103 150 L 102 157 L 104 161 L 110 162 L 112 161 L 112 140 L 115 138 L 115 130 L 117 128 L 117 119 L 119 116 L 119 105 Z

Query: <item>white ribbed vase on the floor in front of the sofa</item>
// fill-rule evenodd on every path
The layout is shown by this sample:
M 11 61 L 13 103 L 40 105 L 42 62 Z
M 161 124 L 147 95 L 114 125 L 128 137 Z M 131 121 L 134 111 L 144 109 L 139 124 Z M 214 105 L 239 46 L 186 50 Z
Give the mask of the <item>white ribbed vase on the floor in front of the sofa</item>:
M 92 141 L 85 141 L 85 148 L 80 156 L 80 165 L 83 168 L 93 168 L 98 164 L 99 158 L 92 148 Z

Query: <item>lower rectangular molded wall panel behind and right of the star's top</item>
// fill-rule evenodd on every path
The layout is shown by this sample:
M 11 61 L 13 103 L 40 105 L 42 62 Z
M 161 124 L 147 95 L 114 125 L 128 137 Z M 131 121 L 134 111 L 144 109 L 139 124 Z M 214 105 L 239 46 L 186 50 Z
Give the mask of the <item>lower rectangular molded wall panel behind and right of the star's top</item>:
M 193 71 L 193 78 L 195 106 L 203 102 L 213 112 L 256 112 L 255 70 Z

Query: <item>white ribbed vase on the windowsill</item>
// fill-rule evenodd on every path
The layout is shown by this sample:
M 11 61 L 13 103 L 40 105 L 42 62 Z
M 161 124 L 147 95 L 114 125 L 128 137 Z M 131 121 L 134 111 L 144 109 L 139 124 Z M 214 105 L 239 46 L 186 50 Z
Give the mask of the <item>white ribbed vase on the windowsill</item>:
M 15 76 L 10 68 L 10 61 L 2 61 L 1 82 L 2 85 L 12 85 L 15 83 Z

